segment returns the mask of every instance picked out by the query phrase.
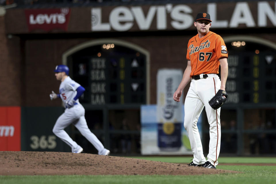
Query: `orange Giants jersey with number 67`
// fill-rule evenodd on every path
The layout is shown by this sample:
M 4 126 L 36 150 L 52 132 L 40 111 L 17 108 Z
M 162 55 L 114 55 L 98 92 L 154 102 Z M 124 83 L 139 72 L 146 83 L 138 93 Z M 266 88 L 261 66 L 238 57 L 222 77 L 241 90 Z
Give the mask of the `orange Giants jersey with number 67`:
M 190 77 L 200 74 L 218 74 L 218 61 L 228 57 L 227 48 L 221 36 L 209 31 L 204 37 L 198 34 L 188 43 L 187 60 L 191 61 Z

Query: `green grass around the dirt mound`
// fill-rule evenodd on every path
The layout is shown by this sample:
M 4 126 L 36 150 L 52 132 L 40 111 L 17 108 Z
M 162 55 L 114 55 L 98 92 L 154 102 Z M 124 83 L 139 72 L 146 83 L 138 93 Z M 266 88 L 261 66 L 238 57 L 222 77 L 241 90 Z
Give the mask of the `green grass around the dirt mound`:
M 137 158 L 137 157 L 135 157 Z M 187 163 L 190 157 L 139 157 L 145 160 L 154 160 L 162 162 Z M 161 159 L 162 158 L 162 159 Z M 220 163 L 275 163 L 276 158 L 256 158 L 256 157 L 222 157 Z M 236 170 L 242 173 L 238 174 L 218 174 L 218 175 L 197 175 L 197 176 L 170 176 L 170 175 L 147 175 L 147 176 L 124 176 L 124 175 L 70 175 L 70 176 L 0 176 L 0 184 L 12 183 L 57 183 L 57 184 L 85 184 L 85 183 L 118 183 L 118 184 L 183 184 L 183 183 L 275 183 L 276 166 L 245 166 L 245 165 L 219 165 L 217 169 Z

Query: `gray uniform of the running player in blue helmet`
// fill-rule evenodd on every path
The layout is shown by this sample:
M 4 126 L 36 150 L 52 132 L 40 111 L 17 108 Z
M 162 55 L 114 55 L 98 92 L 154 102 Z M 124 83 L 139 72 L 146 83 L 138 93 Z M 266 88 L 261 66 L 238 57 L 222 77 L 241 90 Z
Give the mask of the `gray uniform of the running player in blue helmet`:
M 81 85 L 73 81 L 69 76 L 60 84 L 60 98 L 63 103 L 72 100 L 76 94 L 76 89 Z M 79 153 L 83 149 L 69 137 L 64 129 L 71 123 L 81 132 L 81 134 L 98 150 L 98 154 L 106 155 L 109 150 L 105 149 L 99 139 L 90 131 L 85 120 L 85 109 L 76 99 L 74 106 L 66 108 L 64 113 L 57 119 L 53 127 L 53 133 L 62 139 L 72 148 L 73 153 Z

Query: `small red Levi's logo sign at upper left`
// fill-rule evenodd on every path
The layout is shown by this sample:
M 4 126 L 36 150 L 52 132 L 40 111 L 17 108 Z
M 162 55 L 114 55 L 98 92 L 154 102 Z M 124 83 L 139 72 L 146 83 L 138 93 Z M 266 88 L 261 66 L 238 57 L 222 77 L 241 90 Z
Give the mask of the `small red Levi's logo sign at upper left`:
M 32 30 L 67 30 L 71 9 L 27 9 L 25 10 L 29 32 Z

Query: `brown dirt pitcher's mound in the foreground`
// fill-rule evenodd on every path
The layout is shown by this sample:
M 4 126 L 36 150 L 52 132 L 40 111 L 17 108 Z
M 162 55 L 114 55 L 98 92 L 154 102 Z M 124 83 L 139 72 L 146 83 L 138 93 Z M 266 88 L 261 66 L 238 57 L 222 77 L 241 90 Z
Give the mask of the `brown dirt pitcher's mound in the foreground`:
M 0 152 L 0 175 L 201 175 L 237 173 L 117 156 Z

